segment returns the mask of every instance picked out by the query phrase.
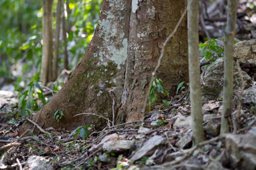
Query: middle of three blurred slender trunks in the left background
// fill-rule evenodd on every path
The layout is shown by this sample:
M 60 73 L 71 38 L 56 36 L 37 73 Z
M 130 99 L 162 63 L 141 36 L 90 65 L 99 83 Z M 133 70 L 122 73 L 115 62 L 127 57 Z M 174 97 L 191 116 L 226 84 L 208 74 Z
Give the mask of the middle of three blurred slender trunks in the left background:
M 61 21 L 61 8 L 63 0 L 58 0 L 56 12 L 56 29 L 55 29 L 55 43 L 54 43 L 54 63 L 53 63 L 53 80 L 58 76 L 58 57 L 59 57 L 59 40 L 60 40 L 60 21 Z

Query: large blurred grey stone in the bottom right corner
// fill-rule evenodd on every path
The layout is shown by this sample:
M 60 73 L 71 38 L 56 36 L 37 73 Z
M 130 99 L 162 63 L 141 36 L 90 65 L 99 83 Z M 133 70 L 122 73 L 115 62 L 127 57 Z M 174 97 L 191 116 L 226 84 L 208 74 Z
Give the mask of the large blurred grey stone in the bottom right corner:
M 256 169 L 256 135 L 228 134 L 225 138 L 225 147 L 232 168 Z

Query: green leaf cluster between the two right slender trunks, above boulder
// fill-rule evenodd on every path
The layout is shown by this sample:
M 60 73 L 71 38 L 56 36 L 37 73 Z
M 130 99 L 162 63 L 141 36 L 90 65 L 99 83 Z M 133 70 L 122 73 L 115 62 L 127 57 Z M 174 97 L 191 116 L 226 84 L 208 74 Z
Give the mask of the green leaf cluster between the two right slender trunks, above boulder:
M 215 38 L 206 38 L 206 42 L 199 44 L 202 59 L 205 58 L 207 61 L 213 62 L 218 57 L 223 57 L 224 49 L 218 44 L 217 40 Z

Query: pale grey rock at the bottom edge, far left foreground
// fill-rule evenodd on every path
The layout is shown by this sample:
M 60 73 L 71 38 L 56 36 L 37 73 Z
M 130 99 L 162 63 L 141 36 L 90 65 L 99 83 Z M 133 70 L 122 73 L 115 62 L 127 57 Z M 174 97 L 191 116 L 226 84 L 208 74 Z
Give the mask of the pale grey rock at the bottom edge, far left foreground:
M 53 170 L 52 166 L 46 163 L 46 159 L 42 156 L 30 156 L 24 166 L 25 170 Z

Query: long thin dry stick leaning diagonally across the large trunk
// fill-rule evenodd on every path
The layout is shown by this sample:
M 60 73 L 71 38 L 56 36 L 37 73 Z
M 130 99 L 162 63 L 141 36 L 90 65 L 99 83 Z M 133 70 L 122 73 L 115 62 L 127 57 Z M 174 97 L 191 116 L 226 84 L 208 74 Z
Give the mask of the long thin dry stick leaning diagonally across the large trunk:
M 193 0 L 191 0 L 191 1 L 189 2 L 187 8 L 190 6 L 190 4 L 191 4 L 192 1 L 193 1 Z M 175 26 L 175 28 L 174 28 L 174 31 L 166 38 L 165 42 L 163 43 L 163 47 L 162 47 L 162 49 L 161 49 L 160 57 L 159 57 L 159 59 L 158 59 L 158 61 L 157 61 L 157 65 L 156 65 L 154 71 L 152 72 L 152 76 L 151 76 L 150 83 L 149 83 L 149 86 L 148 86 L 148 89 L 147 89 L 147 93 L 146 93 L 146 97 L 145 97 L 145 100 L 144 100 L 143 110 L 146 110 L 146 103 L 147 103 L 147 100 L 148 100 L 148 95 L 149 95 L 149 93 L 150 93 L 150 88 L 151 88 L 151 86 L 152 86 L 155 73 L 156 73 L 157 69 L 160 67 L 161 60 L 162 60 L 162 58 L 163 58 L 163 56 L 164 56 L 165 46 L 166 46 L 166 44 L 169 42 L 170 38 L 172 38 L 173 35 L 176 33 L 176 31 L 177 31 L 179 25 L 180 25 L 181 22 L 182 22 L 183 17 L 185 16 L 185 14 L 186 14 L 186 12 L 187 12 L 187 8 L 185 9 L 185 11 L 183 12 L 183 14 L 182 14 L 180 20 L 179 20 L 178 23 L 176 24 L 176 26 Z M 143 116 L 144 116 L 144 115 L 143 115 Z

